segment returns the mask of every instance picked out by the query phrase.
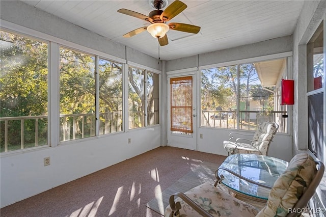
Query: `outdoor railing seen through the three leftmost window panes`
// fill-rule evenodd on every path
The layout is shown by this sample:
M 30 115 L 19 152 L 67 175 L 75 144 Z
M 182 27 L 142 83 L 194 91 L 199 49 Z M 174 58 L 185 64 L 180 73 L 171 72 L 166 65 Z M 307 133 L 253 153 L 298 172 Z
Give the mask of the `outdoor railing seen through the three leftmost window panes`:
M 122 131 L 122 111 L 100 113 L 100 134 Z M 0 118 L 1 152 L 47 145 L 47 116 Z M 95 135 L 95 114 L 60 115 L 60 141 Z

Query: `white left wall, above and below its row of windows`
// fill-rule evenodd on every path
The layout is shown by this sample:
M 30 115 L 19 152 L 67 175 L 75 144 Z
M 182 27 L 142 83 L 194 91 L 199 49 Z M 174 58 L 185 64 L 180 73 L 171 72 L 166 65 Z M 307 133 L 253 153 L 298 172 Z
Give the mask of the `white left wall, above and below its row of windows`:
M 81 45 L 118 59 L 160 70 L 161 65 L 157 64 L 155 58 L 22 2 L 1 1 L 0 14 L 2 24 L 7 28 L 11 25 L 26 31 L 25 34 L 38 31 L 42 33 L 39 37 L 46 37 L 43 39 Z M 64 145 L 53 144 L 53 147 L 1 153 L 0 206 L 10 205 L 159 147 L 160 130 L 161 126 L 157 125 L 70 141 Z M 128 144 L 128 138 L 131 139 L 131 144 Z M 50 157 L 49 166 L 44 167 L 44 157 Z

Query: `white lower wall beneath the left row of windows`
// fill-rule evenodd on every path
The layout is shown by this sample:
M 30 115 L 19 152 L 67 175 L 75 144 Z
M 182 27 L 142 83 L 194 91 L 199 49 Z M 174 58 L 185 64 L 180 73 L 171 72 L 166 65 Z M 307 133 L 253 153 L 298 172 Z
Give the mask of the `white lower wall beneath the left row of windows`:
M 1 156 L 1 207 L 159 146 L 160 126 L 157 125 Z M 44 157 L 50 157 L 49 166 L 44 167 Z

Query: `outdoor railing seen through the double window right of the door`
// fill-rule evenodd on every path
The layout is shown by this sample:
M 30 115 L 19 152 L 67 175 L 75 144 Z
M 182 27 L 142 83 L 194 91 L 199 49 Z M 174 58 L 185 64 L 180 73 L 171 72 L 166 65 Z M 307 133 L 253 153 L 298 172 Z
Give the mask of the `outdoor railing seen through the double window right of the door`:
M 239 111 L 239 129 L 256 130 L 263 121 L 277 122 L 279 132 L 286 132 L 286 121 L 282 111 Z M 201 126 L 237 129 L 237 111 L 202 110 Z

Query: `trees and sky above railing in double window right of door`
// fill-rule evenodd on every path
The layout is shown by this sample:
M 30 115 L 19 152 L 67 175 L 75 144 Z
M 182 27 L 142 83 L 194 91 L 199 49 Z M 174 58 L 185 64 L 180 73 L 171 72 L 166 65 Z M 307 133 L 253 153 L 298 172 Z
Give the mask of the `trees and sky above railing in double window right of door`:
M 263 88 L 255 64 L 239 65 L 239 99 L 245 110 L 251 101 L 259 101 L 263 107 L 273 108 L 274 88 Z M 204 110 L 236 110 L 237 66 L 219 67 L 201 71 L 201 97 Z

